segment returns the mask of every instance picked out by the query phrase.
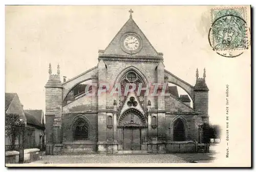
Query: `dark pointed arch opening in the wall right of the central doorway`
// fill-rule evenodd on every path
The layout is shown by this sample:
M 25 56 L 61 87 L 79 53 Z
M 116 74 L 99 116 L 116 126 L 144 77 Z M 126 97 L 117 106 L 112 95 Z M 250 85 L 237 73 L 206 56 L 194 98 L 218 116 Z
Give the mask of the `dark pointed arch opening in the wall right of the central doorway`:
M 180 118 L 174 123 L 174 141 L 185 141 L 185 126 Z

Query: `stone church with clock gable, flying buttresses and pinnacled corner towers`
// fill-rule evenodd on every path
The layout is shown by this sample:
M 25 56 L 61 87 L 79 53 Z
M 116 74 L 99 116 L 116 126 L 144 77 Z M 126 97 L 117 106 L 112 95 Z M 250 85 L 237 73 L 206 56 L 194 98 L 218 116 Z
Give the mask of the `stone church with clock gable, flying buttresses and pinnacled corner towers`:
M 47 154 L 168 153 L 177 145 L 188 148 L 202 142 L 202 125 L 209 122 L 205 70 L 203 78 L 196 70 L 195 86 L 165 70 L 163 53 L 129 12 L 110 44 L 98 51 L 97 66 L 61 82 L 59 66 L 54 75 L 50 64 L 45 86 Z M 106 85 L 117 83 L 122 93 L 127 84 L 167 84 L 169 95 L 111 95 Z M 187 94 L 179 95 L 177 86 Z M 99 94 L 99 88 L 105 92 Z M 92 92 L 96 94 L 88 94 Z

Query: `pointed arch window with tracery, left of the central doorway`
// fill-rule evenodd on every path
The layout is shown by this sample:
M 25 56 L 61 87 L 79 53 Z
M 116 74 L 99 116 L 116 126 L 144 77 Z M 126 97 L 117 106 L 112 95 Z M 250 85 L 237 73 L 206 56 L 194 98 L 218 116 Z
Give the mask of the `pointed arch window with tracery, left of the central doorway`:
M 89 140 L 89 125 L 84 119 L 77 119 L 74 123 L 74 140 Z

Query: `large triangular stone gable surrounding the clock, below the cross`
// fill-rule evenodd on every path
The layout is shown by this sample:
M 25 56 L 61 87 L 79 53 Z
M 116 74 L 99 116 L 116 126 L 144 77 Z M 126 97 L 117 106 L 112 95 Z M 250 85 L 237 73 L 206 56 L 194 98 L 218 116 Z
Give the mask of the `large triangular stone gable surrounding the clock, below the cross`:
M 127 22 L 124 24 L 124 26 L 120 29 L 120 31 L 116 34 L 116 36 L 112 39 L 110 44 L 105 48 L 105 50 L 101 53 L 108 54 L 108 55 L 131 55 L 129 53 L 126 53 L 122 50 L 121 45 L 123 44 L 123 38 L 124 35 L 127 33 L 134 33 L 135 35 L 138 35 L 139 38 L 142 41 L 142 47 L 141 50 L 133 54 L 135 56 L 158 56 L 162 54 L 157 53 L 155 48 L 152 46 L 150 41 L 146 38 L 146 36 L 143 34 L 143 32 L 140 30 L 140 28 L 137 26 L 135 21 L 132 17 L 127 20 Z

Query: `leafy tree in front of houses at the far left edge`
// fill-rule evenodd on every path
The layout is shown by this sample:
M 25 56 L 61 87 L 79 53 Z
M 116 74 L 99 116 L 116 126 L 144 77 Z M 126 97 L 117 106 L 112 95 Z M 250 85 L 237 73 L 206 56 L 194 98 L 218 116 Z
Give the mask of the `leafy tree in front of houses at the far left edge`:
M 25 122 L 19 119 L 18 114 L 8 113 L 5 115 L 5 135 L 11 138 L 12 150 L 14 150 L 15 139 L 22 132 L 25 127 Z

